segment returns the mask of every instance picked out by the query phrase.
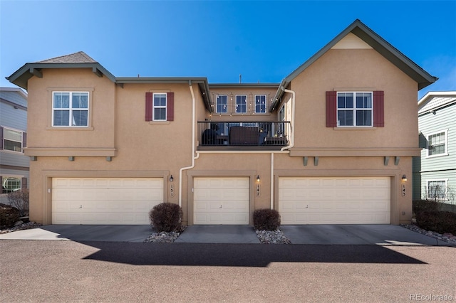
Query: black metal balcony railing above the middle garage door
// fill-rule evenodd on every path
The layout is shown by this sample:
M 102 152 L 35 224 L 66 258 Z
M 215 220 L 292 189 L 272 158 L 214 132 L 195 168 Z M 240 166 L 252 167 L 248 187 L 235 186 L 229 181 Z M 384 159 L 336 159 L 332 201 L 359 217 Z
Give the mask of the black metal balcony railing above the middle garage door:
M 200 146 L 286 146 L 290 122 L 198 122 Z

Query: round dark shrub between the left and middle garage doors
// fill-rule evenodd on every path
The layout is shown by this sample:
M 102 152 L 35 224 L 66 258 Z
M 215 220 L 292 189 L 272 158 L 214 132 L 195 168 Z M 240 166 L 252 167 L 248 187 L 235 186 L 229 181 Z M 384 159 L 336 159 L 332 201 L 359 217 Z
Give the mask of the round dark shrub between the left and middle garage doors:
M 149 218 L 157 232 L 178 231 L 182 224 L 182 208 L 175 203 L 160 203 L 150 210 Z

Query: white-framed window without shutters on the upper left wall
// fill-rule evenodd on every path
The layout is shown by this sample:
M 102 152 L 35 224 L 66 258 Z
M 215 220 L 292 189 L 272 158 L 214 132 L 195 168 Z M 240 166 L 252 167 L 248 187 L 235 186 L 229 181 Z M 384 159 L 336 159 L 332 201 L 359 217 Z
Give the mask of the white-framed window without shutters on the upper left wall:
M 53 92 L 52 126 L 88 127 L 88 92 Z

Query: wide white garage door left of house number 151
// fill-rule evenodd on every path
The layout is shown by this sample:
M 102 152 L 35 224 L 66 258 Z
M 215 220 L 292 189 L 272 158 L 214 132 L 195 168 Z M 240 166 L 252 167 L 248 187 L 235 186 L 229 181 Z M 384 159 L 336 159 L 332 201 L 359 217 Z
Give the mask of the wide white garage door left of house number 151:
M 53 178 L 53 224 L 150 224 L 162 178 Z

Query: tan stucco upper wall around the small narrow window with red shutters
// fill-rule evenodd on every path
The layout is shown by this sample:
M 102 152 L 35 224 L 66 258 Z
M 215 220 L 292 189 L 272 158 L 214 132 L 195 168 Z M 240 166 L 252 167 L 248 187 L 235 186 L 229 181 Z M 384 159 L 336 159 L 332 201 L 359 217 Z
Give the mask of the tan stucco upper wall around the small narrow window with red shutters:
M 145 93 L 174 92 L 174 121 L 145 121 Z M 118 169 L 190 164 L 192 97 L 186 84 L 127 84 L 118 88 L 116 147 Z

